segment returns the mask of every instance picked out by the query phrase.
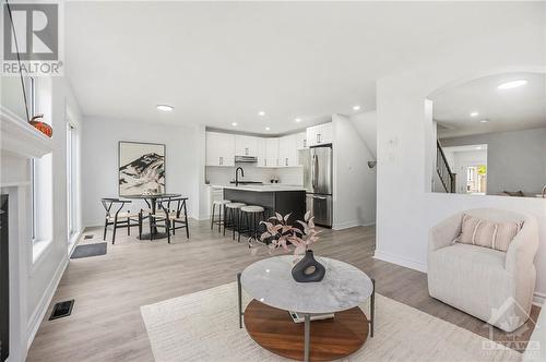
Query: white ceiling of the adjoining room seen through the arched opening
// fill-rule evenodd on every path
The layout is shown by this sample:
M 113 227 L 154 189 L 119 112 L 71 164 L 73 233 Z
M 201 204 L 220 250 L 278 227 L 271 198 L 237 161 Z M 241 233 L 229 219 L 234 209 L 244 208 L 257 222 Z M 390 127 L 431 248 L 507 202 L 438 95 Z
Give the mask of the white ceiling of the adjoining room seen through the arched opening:
M 526 80 L 512 89 L 499 84 Z M 431 97 L 434 119 L 441 137 L 529 130 L 546 126 L 546 74 L 502 73 L 440 90 Z M 471 112 L 478 112 L 471 117 Z M 487 123 L 480 121 L 487 119 Z

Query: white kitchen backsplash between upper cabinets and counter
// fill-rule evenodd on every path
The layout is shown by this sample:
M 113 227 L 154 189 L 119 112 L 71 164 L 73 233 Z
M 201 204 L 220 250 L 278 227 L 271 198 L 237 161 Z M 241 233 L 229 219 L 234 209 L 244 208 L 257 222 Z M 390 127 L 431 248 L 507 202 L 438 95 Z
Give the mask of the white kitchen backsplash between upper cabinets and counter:
M 245 170 L 245 177 L 239 180 L 246 181 L 260 181 L 270 183 L 272 179 L 276 178 L 280 183 L 302 185 L 304 184 L 304 169 L 301 167 L 289 168 L 261 168 L 250 166 L 249 164 L 240 164 L 235 167 L 216 167 L 206 166 L 205 178 L 210 184 L 228 184 L 229 181 L 235 180 L 235 169 L 240 166 Z

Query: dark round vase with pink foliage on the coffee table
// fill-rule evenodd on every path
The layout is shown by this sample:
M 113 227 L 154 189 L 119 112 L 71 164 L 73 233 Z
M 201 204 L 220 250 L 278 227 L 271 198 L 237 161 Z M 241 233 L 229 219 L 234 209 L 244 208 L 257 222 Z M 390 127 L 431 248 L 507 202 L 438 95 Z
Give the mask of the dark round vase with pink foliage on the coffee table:
M 288 225 L 290 214 L 284 217 L 275 213 L 265 225 L 266 231 L 260 237 L 261 241 L 271 241 L 270 250 L 283 249 L 290 251 L 294 248 L 294 255 L 301 256 L 292 268 L 292 276 L 298 282 L 317 282 L 324 278 L 327 269 L 313 256 L 310 246 L 319 241 L 319 233 L 314 227 L 313 217 L 308 212 L 304 220 L 298 220 L 298 226 Z M 252 246 L 252 245 L 251 245 Z

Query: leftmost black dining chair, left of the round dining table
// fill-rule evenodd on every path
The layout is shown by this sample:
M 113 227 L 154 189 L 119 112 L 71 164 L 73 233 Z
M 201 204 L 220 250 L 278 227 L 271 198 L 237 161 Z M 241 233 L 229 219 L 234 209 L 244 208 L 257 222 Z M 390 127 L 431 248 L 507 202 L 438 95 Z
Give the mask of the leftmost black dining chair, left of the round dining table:
M 139 237 L 142 236 L 142 220 L 138 213 L 131 213 L 129 209 L 127 212 L 121 212 L 126 204 L 130 204 L 130 201 L 105 197 L 100 198 L 100 203 L 106 210 L 105 225 L 104 225 L 104 236 L 103 240 L 106 240 L 106 232 L 108 227 L 111 225 L 112 237 L 111 243 L 116 242 L 116 230 L 119 228 L 127 228 L 127 234 L 131 234 L 132 227 L 139 227 Z

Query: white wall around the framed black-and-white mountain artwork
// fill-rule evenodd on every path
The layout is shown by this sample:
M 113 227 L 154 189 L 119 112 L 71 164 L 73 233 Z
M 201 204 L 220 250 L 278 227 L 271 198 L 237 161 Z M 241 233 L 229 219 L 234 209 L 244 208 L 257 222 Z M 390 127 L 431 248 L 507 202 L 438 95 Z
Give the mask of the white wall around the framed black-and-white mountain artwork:
M 102 197 L 118 197 L 118 142 L 161 143 L 165 150 L 167 192 L 189 197 L 188 214 L 199 217 L 200 137 L 198 126 L 138 123 L 85 118 L 82 142 L 83 225 L 104 225 Z M 132 209 L 143 202 L 133 201 Z

